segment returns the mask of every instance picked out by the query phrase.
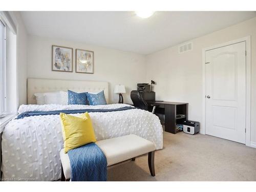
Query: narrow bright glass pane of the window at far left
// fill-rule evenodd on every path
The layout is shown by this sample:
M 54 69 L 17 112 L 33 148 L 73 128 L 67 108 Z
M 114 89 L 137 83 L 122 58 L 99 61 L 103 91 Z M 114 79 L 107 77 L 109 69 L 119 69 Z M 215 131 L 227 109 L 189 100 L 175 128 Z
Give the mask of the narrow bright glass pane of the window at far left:
M 6 114 L 6 26 L 0 20 L 0 118 Z

